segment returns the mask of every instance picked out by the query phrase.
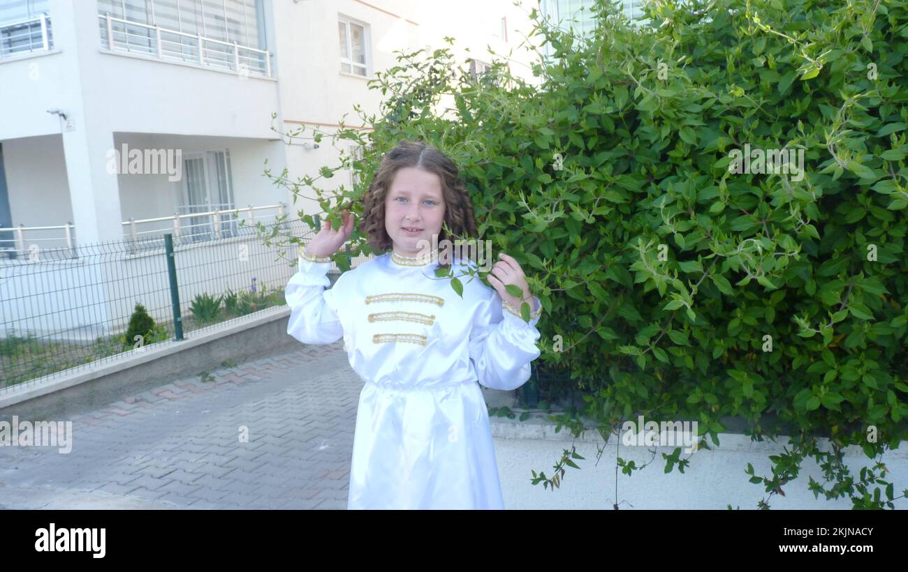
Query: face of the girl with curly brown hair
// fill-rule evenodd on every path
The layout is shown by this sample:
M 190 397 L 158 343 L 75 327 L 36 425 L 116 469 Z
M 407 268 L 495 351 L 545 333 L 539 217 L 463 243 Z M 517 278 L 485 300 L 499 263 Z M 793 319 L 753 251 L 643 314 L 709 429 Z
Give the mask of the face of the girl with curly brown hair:
M 444 218 L 445 200 L 439 176 L 416 167 L 400 168 L 385 197 L 385 230 L 394 243 L 394 251 L 404 257 L 428 254 L 432 237 L 439 240 Z M 427 245 L 420 247 L 420 240 Z

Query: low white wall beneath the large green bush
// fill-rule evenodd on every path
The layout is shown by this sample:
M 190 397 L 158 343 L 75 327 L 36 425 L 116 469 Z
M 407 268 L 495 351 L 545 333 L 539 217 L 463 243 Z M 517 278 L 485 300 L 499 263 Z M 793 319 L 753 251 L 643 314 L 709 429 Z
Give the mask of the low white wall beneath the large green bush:
M 631 476 L 618 470 L 616 476 L 617 457 L 627 462 L 634 461 L 639 467 L 653 459 L 653 453 L 648 451 L 653 448 L 616 447 L 616 436 L 612 435 L 598 462 L 594 441 L 576 443 L 577 453 L 586 460 L 574 460 L 579 470 L 566 467 L 567 472 L 559 489 L 545 490 L 541 483 L 531 484 L 530 470 L 537 473 L 543 471 L 551 478 L 554 474 L 552 467 L 566 449 L 570 451 L 572 442 L 565 432 L 562 429 L 561 434 L 555 433 L 551 422 L 492 422 L 507 509 L 613 509 L 616 502 L 619 510 L 725 510 L 729 504 L 733 509 L 756 509 L 757 502 L 768 493 L 764 485 L 748 481 L 750 476 L 745 474 L 747 463 L 754 466 L 756 475 L 771 476 L 768 457 L 782 453 L 787 444 L 786 438 L 775 443 L 753 443 L 743 434 L 720 433 L 721 445 L 714 451 L 694 452 L 683 474 L 677 467 L 671 473 L 665 473 L 661 453 L 670 454 L 674 448 L 660 447 L 656 450 L 656 460 L 646 469 L 634 471 Z M 525 438 L 518 438 L 521 434 Z M 598 442 L 601 446 L 601 439 Z M 682 453 L 681 457 L 685 459 L 687 455 Z M 873 462 L 853 449 L 849 449 L 844 458 L 855 479 L 862 467 L 871 467 Z M 889 451 L 884 455 L 883 462 L 890 470 L 886 480 L 893 481 L 895 496 L 898 496 L 898 491 L 908 487 L 908 452 L 904 447 Z M 847 496 L 826 500 L 820 495 L 819 499 L 814 499 L 814 493 L 808 489 L 810 477 L 824 482 L 823 471 L 808 459 L 804 460 L 798 478 L 783 486 L 785 495 L 776 494 L 769 500 L 772 509 L 851 509 L 852 503 Z M 826 487 L 829 486 L 827 483 Z M 895 506 L 904 508 L 903 500 L 895 501 Z M 678 530 L 677 533 L 679 541 L 684 543 L 681 538 L 686 536 L 686 532 Z

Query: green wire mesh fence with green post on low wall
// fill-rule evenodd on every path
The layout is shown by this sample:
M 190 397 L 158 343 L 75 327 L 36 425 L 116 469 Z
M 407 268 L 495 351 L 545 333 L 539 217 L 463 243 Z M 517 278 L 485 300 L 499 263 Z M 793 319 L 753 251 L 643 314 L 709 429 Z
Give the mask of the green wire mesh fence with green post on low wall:
M 280 237 L 303 244 L 316 231 L 299 219 L 275 224 Z M 285 304 L 299 246 L 267 245 L 264 236 L 156 235 L 0 259 L 0 391 L 274 311 Z

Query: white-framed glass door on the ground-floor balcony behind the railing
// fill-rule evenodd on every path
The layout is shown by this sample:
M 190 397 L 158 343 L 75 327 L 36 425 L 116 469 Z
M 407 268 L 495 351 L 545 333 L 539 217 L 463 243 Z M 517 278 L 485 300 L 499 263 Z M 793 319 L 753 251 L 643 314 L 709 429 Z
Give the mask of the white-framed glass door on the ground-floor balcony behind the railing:
M 183 172 L 185 176 L 180 214 L 236 208 L 233 202 L 230 150 L 184 155 Z M 188 218 L 189 223 L 183 223 L 185 230 L 182 234 L 192 241 L 211 240 L 216 238 L 217 234 L 222 237 L 233 237 L 238 234 L 238 225 L 233 213 L 223 213 L 220 219 L 220 227 L 215 228 L 213 215 Z

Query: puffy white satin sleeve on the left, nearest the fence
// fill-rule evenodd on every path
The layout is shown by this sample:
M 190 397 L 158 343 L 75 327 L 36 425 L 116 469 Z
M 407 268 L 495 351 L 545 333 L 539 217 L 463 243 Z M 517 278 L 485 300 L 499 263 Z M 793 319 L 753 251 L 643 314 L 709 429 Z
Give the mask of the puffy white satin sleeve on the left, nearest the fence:
M 327 276 L 331 258 L 326 258 L 329 261 L 317 262 L 314 257 L 307 259 L 301 256 L 299 270 L 284 288 L 284 299 L 291 309 L 287 334 L 303 344 L 331 344 L 343 337 L 334 288 L 325 289 L 331 286 Z

